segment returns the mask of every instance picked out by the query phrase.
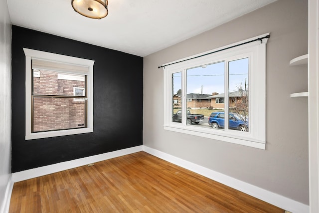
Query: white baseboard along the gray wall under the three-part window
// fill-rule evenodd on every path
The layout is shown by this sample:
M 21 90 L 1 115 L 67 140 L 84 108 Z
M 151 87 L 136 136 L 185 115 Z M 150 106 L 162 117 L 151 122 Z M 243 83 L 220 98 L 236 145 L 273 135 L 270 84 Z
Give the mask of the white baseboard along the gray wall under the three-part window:
M 243 181 L 237 180 L 235 178 L 229 177 L 227 175 L 215 172 L 213 170 L 207 169 L 205 167 L 193 164 L 191 162 L 185 161 L 183 159 L 174 157 L 172 155 L 166 154 L 159 150 L 143 146 L 143 151 L 154 155 L 160 159 L 168 161 L 177 166 L 188 169 L 192 172 L 205 176 L 209 179 L 222 183 L 233 189 L 246 193 L 250 196 L 258 198 L 269 204 L 272 204 L 281 209 L 287 210 L 292 213 L 309 213 L 310 209 L 308 205 L 302 204 L 300 202 L 294 201 L 292 199 L 286 198 L 284 196 L 278 195 L 276 193 L 264 190 L 262 188 L 253 186 L 251 184 L 245 183 Z

